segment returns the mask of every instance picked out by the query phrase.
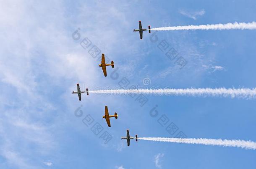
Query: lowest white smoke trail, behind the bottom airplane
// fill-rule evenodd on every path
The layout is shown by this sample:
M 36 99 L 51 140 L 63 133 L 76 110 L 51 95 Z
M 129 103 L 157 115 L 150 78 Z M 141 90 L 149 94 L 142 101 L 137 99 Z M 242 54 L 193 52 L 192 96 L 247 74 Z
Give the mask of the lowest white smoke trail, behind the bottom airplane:
M 244 140 L 222 140 L 222 139 L 182 139 L 182 138 L 165 138 L 165 137 L 139 137 L 139 140 L 149 141 L 164 141 L 171 143 L 186 143 L 186 144 L 203 144 L 212 146 L 230 146 L 239 147 L 242 149 L 256 149 L 256 142 Z

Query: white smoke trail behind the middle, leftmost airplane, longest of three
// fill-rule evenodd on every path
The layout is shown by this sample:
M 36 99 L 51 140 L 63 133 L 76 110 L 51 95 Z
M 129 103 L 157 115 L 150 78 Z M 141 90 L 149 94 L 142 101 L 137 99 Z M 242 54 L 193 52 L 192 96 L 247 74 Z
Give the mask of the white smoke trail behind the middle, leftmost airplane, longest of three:
M 255 98 L 256 88 L 184 88 L 184 89 L 116 89 L 89 91 L 98 94 L 151 94 L 168 96 L 222 96 L 231 98 Z

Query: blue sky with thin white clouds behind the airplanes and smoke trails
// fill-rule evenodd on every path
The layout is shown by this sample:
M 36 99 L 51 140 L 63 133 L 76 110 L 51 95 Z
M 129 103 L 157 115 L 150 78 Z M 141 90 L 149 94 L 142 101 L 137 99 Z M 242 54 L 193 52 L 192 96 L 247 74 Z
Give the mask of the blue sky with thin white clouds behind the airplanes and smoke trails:
M 186 96 L 83 95 L 89 90 L 118 88 L 120 81 L 143 88 L 255 87 L 255 30 L 193 30 L 157 32 L 159 41 L 143 27 L 252 22 L 253 0 L 215 1 L 2 1 L 0 7 L 0 168 L 106 169 L 224 169 L 255 168 L 256 151 L 232 147 L 171 144 L 120 139 L 125 130 L 141 137 L 243 139 L 256 141 L 255 100 Z M 80 38 L 72 34 L 79 30 Z M 80 43 L 88 38 L 115 61 L 104 77 L 96 58 Z M 165 40 L 182 56 L 182 69 L 158 48 Z M 118 78 L 114 79 L 118 73 Z M 112 77 L 111 77 L 112 74 Z M 144 85 L 145 78 L 150 79 Z M 82 116 L 74 112 L 81 107 Z M 157 105 L 157 117 L 150 111 Z M 118 120 L 108 128 L 104 106 Z M 104 140 L 86 126 L 90 115 L 112 139 Z M 175 124 L 168 133 L 158 119 Z

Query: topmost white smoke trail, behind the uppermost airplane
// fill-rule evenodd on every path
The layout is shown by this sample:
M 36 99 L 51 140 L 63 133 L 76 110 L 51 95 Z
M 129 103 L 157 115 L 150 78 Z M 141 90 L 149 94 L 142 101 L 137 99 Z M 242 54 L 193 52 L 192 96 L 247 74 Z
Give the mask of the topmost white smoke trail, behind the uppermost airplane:
M 212 25 L 188 25 L 188 26 L 169 26 L 161 28 L 152 28 L 151 30 L 230 30 L 230 29 L 256 29 L 256 23 L 226 23 Z

